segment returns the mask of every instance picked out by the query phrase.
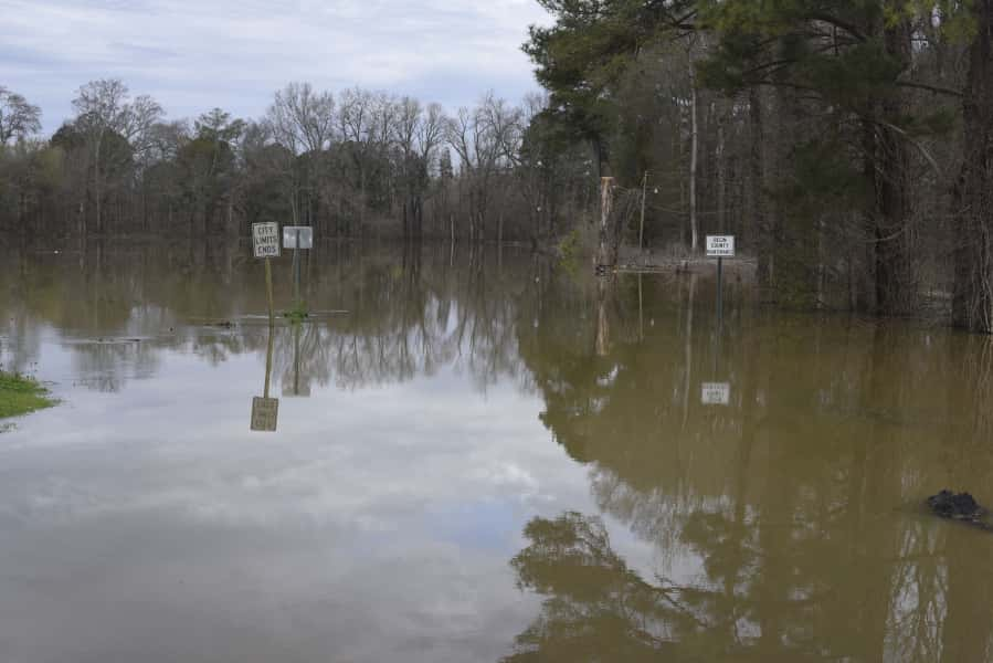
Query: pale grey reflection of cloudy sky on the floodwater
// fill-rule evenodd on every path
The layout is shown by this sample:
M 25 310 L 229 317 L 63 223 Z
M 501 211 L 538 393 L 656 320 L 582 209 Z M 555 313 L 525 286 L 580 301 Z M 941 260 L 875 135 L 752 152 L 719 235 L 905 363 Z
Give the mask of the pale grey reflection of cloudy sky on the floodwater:
M 184 638 L 157 651 L 187 660 L 253 660 L 275 644 L 299 660 L 505 653 L 535 609 L 506 566 L 518 524 L 585 494 L 534 398 L 500 383 L 484 399 L 445 369 L 283 401 L 279 432 L 253 439 L 244 406 L 261 382 L 254 356 L 218 371 L 166 355 L 156 380 L 122 392 L 145 408 L 84 392 L 72 417 L 32 428 L 43 444 L 10 439 L 2 453 L 18 470 L 0 485 L 0 527 L 28 534 L 0 541 L 0 569 L 46 579 L 61 600 L 21 588 L 0 612 L 66 621 L 72 643 L 20 621 L 0 635 L 64 659 L 122 657 L 162 629 Z M 197 620 L 219 622 L 212 636 Z

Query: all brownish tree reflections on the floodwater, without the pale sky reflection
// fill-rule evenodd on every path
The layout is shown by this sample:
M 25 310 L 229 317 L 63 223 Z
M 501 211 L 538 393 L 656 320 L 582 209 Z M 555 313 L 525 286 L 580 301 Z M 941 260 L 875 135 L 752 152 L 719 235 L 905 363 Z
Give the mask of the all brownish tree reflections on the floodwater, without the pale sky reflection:
M 154 377 L 173 351 L 264 361 L 267 328 L 251 317 L 263 273 L 242 251 L 108 246 L 0 265 L 4 367 L 35 360 L 42 330 L 106 390 Z M 288 303 L 288 262 L 275 270 Z M 913 505 L 944 486 L 993 503 L 990 339 L 773 313 L 739 283 L 718 327 L 701 276 L 604 287 L 509 248 L 320 244 L 305 284 L 307 385 L 448 369 L 483 390 L 511 381 L 588 465 L 603 514 L 657 550 L 651 578 L 598 517 L 534 520 L 513 567 L 545 606 L 510 660 L 989 660 L 993 537 Z M 295 348 L 281 326 L 284 381 Z M 729 403 L 701 402 L 704 382 L 727 383 Z

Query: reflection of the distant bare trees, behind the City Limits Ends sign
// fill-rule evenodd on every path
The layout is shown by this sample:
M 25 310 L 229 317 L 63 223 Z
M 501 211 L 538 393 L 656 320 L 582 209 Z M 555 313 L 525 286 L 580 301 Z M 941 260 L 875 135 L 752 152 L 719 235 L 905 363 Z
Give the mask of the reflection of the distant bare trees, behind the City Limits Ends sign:
M 0 265 L 13 284 L 0 307 L 7 332 L 18 339 L 4 357 L 11 367 L 27 366 L 49 326 L 71 338 L 66 347 L 87 383 L 117 390 L 136 375 L 151 376 L 162 350 L 188 351 L 214 366 L 245 352 L 264 355 L 265 335 L 255 325 L 211 326 L 265 312 L 262 265 L 242 253 L 183 243 L 94 243 L 85 255 L 18 256 Z M 441 245 L 362 252 L 348 244 L 317 245 L 308 257 L 311 307 L 347 314 L 318 315 L 303 326 L 304 383 L 353 389 L 447 367 L 480 389 L 501 376 L 522 379 L 515 325 L 517 301 L 531 286 L 527 266 L 521 269 L 528 257 L 495 257 L 478 248 L 451 253 Z M 277 302 L 289 301 L 288 288 L 277 278 Z M 130 347 L 123 343 L 128 338 L 141 340 Z M 275 375 L 284 381 L 296 377 L 294 345 L 281 327 Z

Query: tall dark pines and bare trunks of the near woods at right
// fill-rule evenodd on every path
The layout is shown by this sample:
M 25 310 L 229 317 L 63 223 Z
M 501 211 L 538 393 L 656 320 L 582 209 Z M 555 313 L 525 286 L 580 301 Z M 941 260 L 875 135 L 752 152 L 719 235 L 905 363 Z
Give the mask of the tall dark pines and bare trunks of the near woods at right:
M 991 330 L 993 2 L 539 1 L 546 114 L 649 233 L 737 234 L 780 305 Z

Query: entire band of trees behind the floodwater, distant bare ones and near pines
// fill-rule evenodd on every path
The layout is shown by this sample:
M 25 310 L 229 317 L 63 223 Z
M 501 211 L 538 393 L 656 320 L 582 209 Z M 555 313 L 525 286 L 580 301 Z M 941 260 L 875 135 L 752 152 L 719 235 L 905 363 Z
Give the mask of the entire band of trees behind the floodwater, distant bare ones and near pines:
M 0 222 L 537 246 L 610 211 L 610 264 L 728 232 L 780 306 L 993 332 L 993 0 L 539 2 L 553 21 L 522 48 L 545 94 L 519 105 L 290 84 L 258 119 L 167 122 L 96 81 L 40 140 L 4 90 Z

